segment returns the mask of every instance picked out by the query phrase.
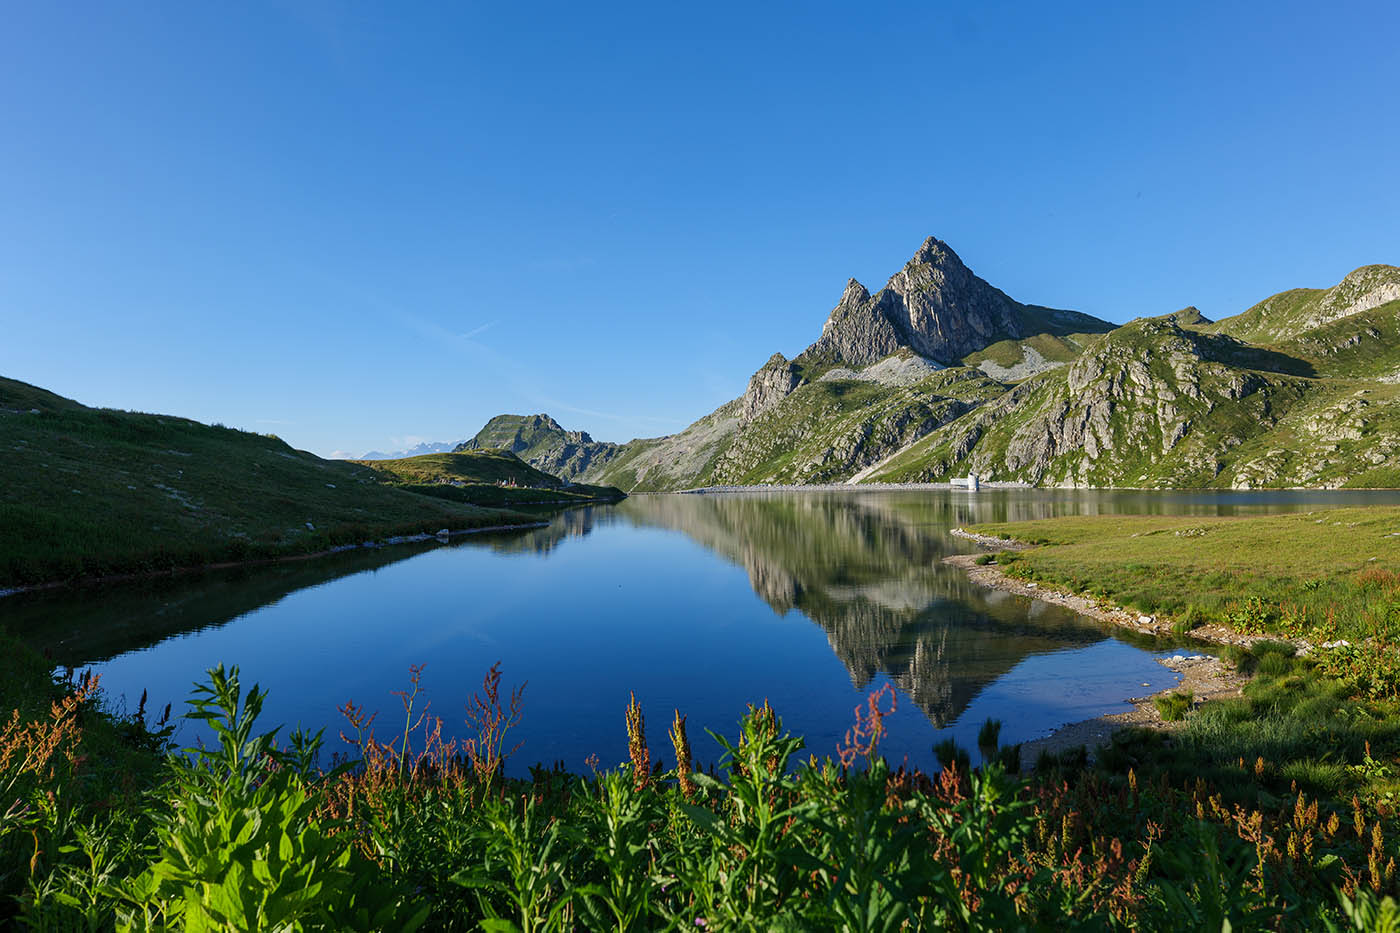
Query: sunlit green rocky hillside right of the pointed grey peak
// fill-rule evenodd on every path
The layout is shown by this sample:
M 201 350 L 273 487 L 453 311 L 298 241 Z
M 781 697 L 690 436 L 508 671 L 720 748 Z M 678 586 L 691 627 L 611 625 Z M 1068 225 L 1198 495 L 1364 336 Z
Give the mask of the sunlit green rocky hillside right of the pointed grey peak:
M 1305 359 L 1134 321 L 900 451 L 868 479 L 977 472 L 1047 486 L 1389 486 L 1400 392 L 1319 378 Z

